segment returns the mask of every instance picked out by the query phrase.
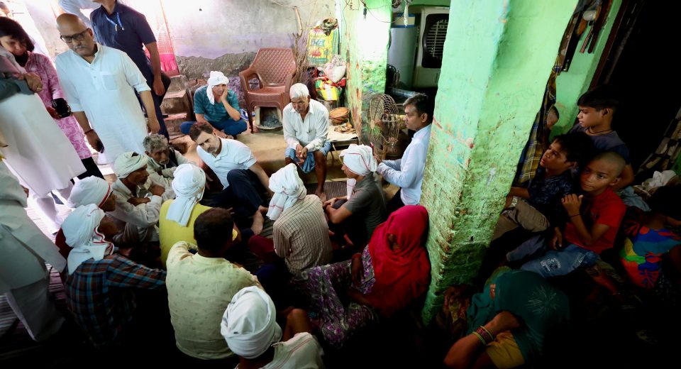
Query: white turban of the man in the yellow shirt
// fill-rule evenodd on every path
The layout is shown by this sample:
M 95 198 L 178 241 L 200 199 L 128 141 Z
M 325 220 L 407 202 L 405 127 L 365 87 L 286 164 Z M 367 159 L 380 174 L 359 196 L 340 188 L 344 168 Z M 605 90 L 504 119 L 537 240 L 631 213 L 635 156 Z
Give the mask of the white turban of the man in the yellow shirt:
M 175 200 L 168 206 L 168 214 L 165 219 L 176 221 L 180 226 L 187 226 L 192 209 L 201 197 L 204 197 L 206 188 L 206 173 L 200 167 L 192 164 L 182 164 L 175 170 L 175 178 L 172 180 L 172 189 L 175 191 Z

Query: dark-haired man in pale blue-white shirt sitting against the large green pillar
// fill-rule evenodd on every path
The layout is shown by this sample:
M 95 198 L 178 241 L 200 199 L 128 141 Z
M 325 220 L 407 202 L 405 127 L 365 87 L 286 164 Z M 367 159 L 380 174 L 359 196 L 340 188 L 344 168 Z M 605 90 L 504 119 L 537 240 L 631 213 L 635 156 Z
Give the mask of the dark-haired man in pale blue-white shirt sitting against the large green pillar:
M 381 160 L 376 172 L 388 182 L 399 186 L 394 197 L 386 205 L 388 214 L 404 205 L 418 205 L 421 202 L 423 169 L 426 166 L 428 143 L 431 141 L 433 122 L 433 101 L 426 94 L 416 94 L 404 101 L 404 123 L 406 128 L 416 131 L 411 143 L 404 150 L 402 159 Z

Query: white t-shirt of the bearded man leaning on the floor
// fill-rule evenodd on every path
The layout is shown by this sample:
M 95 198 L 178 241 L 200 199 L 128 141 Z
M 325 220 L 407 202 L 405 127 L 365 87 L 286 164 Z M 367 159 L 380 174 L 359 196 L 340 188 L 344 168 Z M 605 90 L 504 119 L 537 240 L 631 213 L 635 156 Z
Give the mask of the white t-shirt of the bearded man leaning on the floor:
M 204 160 L 218 176 L 222 183 L 223 189 L 229 187 L 227 182 L 227 173 L 234 169 L 248 169 L 255 164 L 255 156 L 253 151 L 248 146 L 236 140 L 228 140 L 220 138 L 222 141 L 222 148 L 217 156 L 207 152 L 201 146 L 196 148 L 196 153 L 199 153 L 199 158 Z

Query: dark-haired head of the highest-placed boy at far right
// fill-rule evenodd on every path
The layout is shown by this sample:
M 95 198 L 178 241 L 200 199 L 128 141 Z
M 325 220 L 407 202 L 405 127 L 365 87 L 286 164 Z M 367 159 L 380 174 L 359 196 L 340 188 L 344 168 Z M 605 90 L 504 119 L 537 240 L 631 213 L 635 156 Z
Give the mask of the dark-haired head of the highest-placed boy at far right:
M 604 84 L 582 94 L 577 100 L 577 106 L 580 109 L 580 114 L 577 114 L 580 126 L 589 128 L 599 124 L 611 124 L 619 100 L 614 90 Z

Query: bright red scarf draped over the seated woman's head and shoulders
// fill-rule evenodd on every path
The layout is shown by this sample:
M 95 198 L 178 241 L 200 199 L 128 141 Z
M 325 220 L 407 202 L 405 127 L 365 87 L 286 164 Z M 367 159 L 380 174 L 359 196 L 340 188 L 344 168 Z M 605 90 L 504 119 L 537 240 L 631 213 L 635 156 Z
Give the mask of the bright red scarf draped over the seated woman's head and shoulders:
M 428 289 L 431 262 L 423 246 L 428 230 L 428 211 L 420 205 L 406 205 L 390 214 L 376 227 L 369 241 L 375 283 L 365 297 L 383 315 L 404 309 Z M 399 250 L 393 250 L 388 234 L 397 237 Z

